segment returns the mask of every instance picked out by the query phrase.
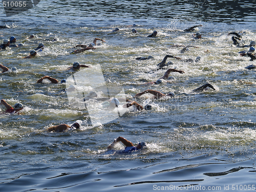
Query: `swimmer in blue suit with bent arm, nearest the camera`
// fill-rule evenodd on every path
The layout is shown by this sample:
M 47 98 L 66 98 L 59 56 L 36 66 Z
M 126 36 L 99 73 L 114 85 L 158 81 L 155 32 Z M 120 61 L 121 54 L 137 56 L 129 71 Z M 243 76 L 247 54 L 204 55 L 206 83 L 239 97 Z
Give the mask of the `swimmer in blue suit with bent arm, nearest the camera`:
M 121 141 L 125 145 L 124 150 L 121 151 L 122 153 L 129 153 L 129 152 L 132 152 L 132 151 L 138 151 L 138 150 L 142 150 L 142 148 L 146 147 L 145 142 L 140 142 L 137 146 L 134 146 L 134 144 L 131 141 L 129 141 L 129 140 L 123 138 L 123 137 L 118 137 L 107 147 L 107 149 L 112 150 L 114 148 L 115 144 L 119 141 Z

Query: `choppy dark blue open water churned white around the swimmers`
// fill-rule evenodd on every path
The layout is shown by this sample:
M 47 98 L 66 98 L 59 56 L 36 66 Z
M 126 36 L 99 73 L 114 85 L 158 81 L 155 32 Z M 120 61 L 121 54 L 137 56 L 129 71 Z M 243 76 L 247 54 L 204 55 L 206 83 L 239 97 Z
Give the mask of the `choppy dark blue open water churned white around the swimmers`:
M 256 39 L 255 3 L 248 1 L 43 1 L 19 15 L 6 17 L 1 10 L 2 39 L 14 35 L 25 46 L 1 51 L 1 62 L 18 72 L 0 75 L 1 99 L 22 102 L 23 115 L 0 115 L 1 191 L 156 191 L 254 189 L 255 61 L 237 53 L 229 32 L 241 32 L 243 42 Z M 129 25 L 136 24 L 137 34 Z M 195 41 L 196 29 L 203 36 Z M 118 27 L 117 33 L 111 31 Z M 147 38 L 154 30 L 156 38 Z M 31 34 L 34 39 L 26 39 Z M 69 54 L 77 44 L 95 37 L 106 40 L 96 50 Z M 45 50 L 22 59 L 44 39 Z M 181 54 L 172 45 L 193 45 Z M 205 52 L 209 50 L 210 53 Z M 186 63 L 172 58 L 176 80 L 146 86 L 165 70 L 156 69 L 166 54 L 195 59 Z M 153 55 L 153 60 L 137 61 Z M 44 75 L 58 79 L 72 75 L 74 61 L 100 64 L 108 86 L 119 83 L 127 98 L 146 89 L 175 92 L 173 99 L 137 99 L 150 102 L 152 111 L 130 112 L 107 124 L 92 127 L 84 109 L 69 105 L 63 84 L 38 84 Z M 189 94 L 209 82 L 216 91 Z M 181 93 L 189 95 L 180 95 Z M 0 105 L 1 111 L 5 108 Z M 81 124 L 81 130 L 47 133 L 51 125 Z M 118 136 L 133 143 L 145 141 L 147 150 L 132 154 L 106 152 Z M 122 148 L 121 145 L 116 146 Z M 178 186 L 178 188 L 177 188 Z M 180 187 L 180 188 L 179 188 Z M 183 188 L 182 188 L 183 187 Z M 194 187 L 194 188 L 193 188 Z

